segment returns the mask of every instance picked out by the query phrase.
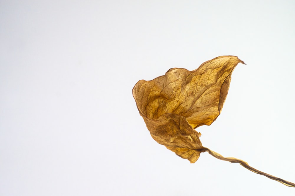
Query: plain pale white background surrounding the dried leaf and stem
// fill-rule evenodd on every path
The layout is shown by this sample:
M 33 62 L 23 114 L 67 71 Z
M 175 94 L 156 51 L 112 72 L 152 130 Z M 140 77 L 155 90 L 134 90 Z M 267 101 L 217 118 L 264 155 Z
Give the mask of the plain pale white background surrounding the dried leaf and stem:
M 295 182 L 294 1 L 1 1 L 0 195 L 294 195 L 155 142 L 132 88 L 239 64 L 203 145 Z

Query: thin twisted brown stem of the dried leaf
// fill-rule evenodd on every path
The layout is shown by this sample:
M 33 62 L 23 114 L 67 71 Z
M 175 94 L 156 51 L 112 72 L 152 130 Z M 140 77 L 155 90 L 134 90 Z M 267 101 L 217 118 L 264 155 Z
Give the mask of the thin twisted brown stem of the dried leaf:
M 281 178 L 278 178 L 278 177 L 275 177 L 273 175 L 269 175 L 267 173 L 264 173 L 262 171 L 259 171 L 253 167 L 251 167 L 250 165 L 248 165 L 247 162 L 243 161 L 243 160 L 240 160 L 240 159 L 237 159 L 237 158 L 233 158 L 233 157 L 223 157 L 222 155 L 220 155 L 219 153 L 216 153 L 214 152 L 213 150 L 210 150 L 209 148 L 203 148 L 201 150 L 202 152 L 208 152 L 210 155 L 214 156 L 215 158 L 217 159 L 220 159 L 220 160 L 224 160 L 224 161 L 229 161 L 231 163 L 240 163 L 240 165 L 242 165 L 243 167 L 245 167 L 246 169 L 254 172 L 254 173 L 257 173 L 257 174 L 260 174 L 260 175 L 264 175 L 268 178 L 270 178 L 271 180 L 276 180 L 278 182 L 281 182 L 282 184 L 288 186 L 288 187 L 295 187 L 295 184 L 292 183 L 292 182 L 289 182 L 287 180 L 283 180 Z

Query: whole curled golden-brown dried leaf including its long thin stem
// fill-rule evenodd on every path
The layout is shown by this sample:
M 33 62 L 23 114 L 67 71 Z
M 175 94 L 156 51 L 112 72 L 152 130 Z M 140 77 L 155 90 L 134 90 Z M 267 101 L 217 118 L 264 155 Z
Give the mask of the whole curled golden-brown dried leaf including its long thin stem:
M 203 147 L 199 139 L 201 134 L 194 130 L 201 125 L 211 125 L 220 114 L 232 71 L 238 63 L 244 62 L 236 56 L 219 56 L 193 71 L 172 68 L 151 81 L 138 81 L 133 97 L 139 113 L 155 141 L 191 163 L 198 160 L 201 152 L 208 152 L 218 159 L 240 163 L 250 171 L 295 187 L 294 183 L 256 170 L 245 161 L 224 158 Z

